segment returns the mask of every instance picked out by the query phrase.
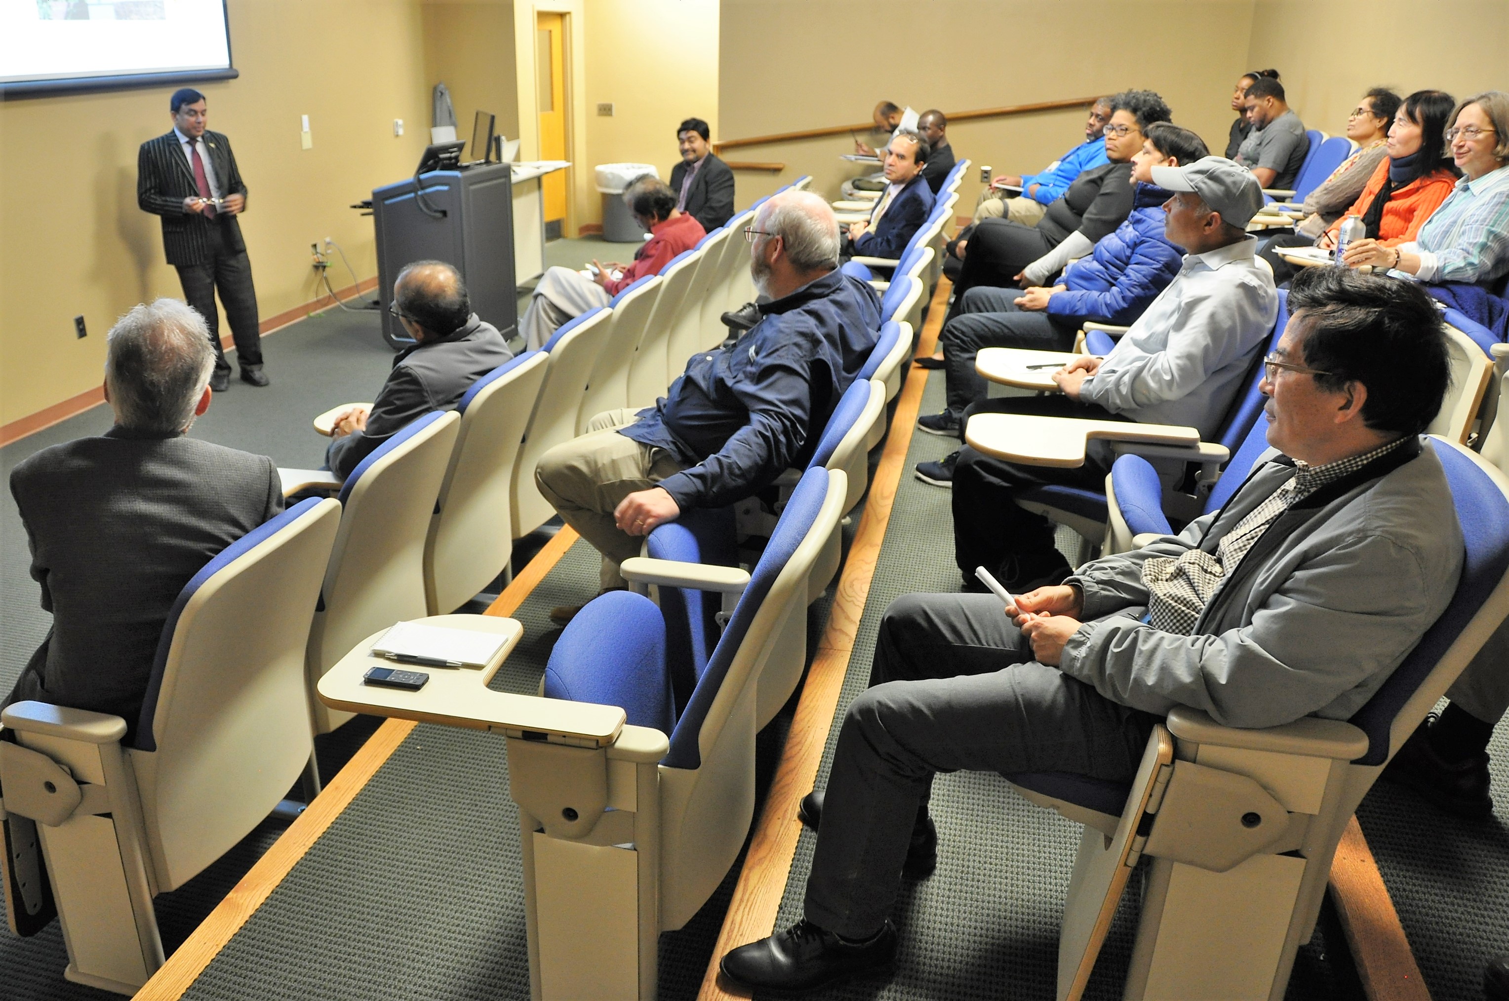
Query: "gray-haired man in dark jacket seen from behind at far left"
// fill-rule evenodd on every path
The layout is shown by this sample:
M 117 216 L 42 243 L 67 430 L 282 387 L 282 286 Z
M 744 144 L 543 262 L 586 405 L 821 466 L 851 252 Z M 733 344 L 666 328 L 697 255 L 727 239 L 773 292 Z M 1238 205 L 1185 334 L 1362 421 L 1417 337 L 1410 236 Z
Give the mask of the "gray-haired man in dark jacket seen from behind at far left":
M 282 511 L 273 460 L 186 436 L 210 407 L 208 339 L 199 314 L 175 298 L 128 312 L 109 333 L 115 427 L 42 449 L 11 473 L 53 629 L 6 704 L 113 713 L 130 740 L 178 592 Z

